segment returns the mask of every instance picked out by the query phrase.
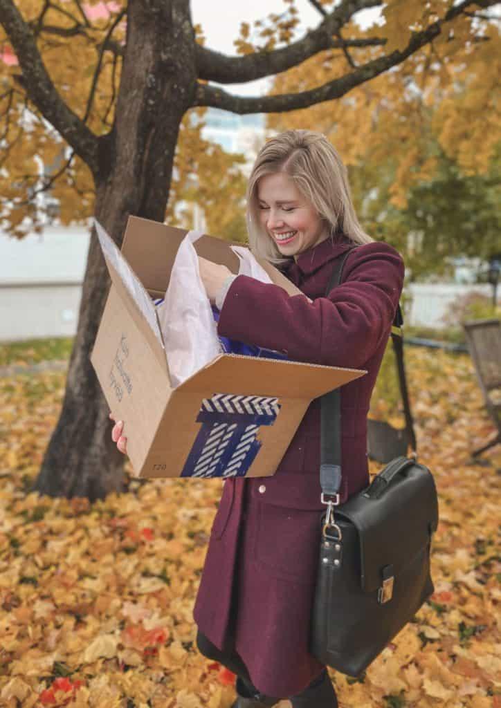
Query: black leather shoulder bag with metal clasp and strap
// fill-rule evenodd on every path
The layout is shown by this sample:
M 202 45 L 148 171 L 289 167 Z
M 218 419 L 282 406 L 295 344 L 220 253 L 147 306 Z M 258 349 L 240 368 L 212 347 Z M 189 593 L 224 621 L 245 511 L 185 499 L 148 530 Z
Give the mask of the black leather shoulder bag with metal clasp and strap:
M 344 258 L 331 284 L 341 282 Z M 401 324 L 400 308 L 398 317 Z M 405 456 L 339 506 L 340 398 L 338 389 L 322 396 L 320 484 L 327 511 L 320 518 L 310 653 L 358 676 L 434 592 L 429 556 L 439 508 L 431 472 Z

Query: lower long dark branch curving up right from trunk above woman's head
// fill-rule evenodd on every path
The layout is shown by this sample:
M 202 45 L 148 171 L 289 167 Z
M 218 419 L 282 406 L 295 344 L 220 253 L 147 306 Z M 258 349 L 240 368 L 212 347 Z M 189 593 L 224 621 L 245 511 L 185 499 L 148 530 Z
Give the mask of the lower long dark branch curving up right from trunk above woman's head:
M 484 0 L 495 4 L 497 0 Z M 282 113 L 287 110 L 297 110 L 298 108 L 308 108 L 315 103 L 324 101 L 332 101 L 334 98 L 340 98 L 345 93 L 354 89 L 355 86 L 364 84 L 365 81 L 373 79 L 374 76 L 388 71 L 391 67 L 403 62 L 407 57 L 410 57 L 420 47 L 432 42 L 434 38 L 441 33 L 441 28 L 444 23 L 451 22 L 458 15 L 463 13 L 464 9 L 472 4 L 478 4 L 475 0 L 463 0 L 461 4 L 452 6 L 446 12 L 444 18 L 429 25 L 422 32 L 412 33 L 410 42 L 404 50 L 395 50 L 390 55 L 383 55 L 377 59 L 372 59 L 366 64 L 354 69 L 349 74 L 344 74 L 337 79 L 327 82 L 316 89 L 302 91 L 300 93 L 285 93 L 279 96 L 262 96 L 249 97 L 233 96 L 223 89 L 215 88 L 206 84 L 198 84 L 196 89 L 196 97 L 193 106 L 210 106 L 212 108 L 222 108 L 230 110 L 232 113 Z

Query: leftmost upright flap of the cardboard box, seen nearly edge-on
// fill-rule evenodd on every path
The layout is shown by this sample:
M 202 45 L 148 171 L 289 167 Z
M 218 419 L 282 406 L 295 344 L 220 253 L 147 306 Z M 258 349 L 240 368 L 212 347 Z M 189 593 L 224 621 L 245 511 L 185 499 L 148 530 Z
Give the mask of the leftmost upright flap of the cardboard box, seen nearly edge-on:
M 137 278 L 133 269 L 130 268 L 123 254 L 118 250 L 113 239 L 111 239 L 96 219 L 94 219 L 94 225 L 111 282 L 113 282 L 114 287 L 116 287 L 118 294 L 123 300 L 125 307 L 127 307 L 130 316 L 135 321 L 135 324 L 144 334 L 147 343 L 162 365 L 162 369 L 164 369 L 164 371 L 167 372 L 167 376 L 169 376 L 164 338 L 162 337 L 157 311 L 152 299 L 146 292 L 142 282 Z

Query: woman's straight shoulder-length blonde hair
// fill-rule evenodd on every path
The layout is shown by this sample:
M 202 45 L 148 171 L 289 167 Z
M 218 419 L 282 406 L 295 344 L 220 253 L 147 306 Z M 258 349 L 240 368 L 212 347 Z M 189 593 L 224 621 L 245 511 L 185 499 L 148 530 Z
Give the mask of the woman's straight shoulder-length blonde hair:
M 276 265 L 291 260 L 278 251 L 259 219 L 259 180 L 277 172 L 285 172 L 293 179 L 325 221 L 331 238 L 341 230 L 354 244 L 374 240 L 359 224 L 351 202 L 347 169 L 327 138 L 313 130 L 286 130 L 261 147 L 247 184 L 247 230 L 255 256 Z

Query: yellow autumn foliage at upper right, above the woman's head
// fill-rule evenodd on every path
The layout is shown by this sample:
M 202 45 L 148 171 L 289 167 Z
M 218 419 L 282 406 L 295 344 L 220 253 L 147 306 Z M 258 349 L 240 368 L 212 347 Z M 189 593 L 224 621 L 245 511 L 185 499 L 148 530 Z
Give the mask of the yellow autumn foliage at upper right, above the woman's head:
M 321 13 L 324 5 L 318 4 Z M 362 30 L 351 21 L 344 32 L 361 42 L 383 42 L 388 51 L 400 49 L 412 32 L 425 30 L 452 5 L 449 0 L 388 0 L 381 23 Z M 466 175 L 485 173 L 501 138 L 500 25 L 491 17 L 478 7 L 466 10 L 454 27 L 389 72 L 337 101 L 272 114 L 269 127 L 323 132 L 348 165 L 370 164 L 376 179 L 378 166 L 393 162 L 395 207 L 405 206 L 412 184 L 434 174 L 434 145 Z M 377 54 L 377 46 L 359 47 L 356 54 L 347 47 L 327 50 L 277 76 L 271 93 L 314 89 Z

